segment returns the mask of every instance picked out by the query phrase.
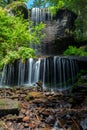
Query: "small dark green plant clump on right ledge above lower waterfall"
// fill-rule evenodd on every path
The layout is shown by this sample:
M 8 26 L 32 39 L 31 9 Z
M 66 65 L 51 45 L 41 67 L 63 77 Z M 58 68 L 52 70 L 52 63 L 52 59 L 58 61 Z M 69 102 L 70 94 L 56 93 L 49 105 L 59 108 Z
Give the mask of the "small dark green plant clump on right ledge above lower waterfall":
M 84 47 L 77 48 L 75 46 L 69 46 L 67 50 L 64 51 L 64 55 L 76 55 L 76 56 L 87 56 L 87 52 Z

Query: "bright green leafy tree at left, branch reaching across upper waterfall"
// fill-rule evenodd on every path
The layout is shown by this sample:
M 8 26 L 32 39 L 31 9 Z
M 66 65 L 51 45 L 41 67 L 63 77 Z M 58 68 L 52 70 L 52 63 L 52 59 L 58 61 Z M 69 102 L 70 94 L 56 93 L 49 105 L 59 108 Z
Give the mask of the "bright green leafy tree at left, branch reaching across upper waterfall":
M 40 40 L 44 37 L 43 28 L 42 23 L 33 26 L 31 21 L 10 16 L 6 10 L 0 8 L 0 61 L 3 61 L 9 52 L 17 53 L 21 47 L 26 49 L 29 48 L 29 44 L 40 44 Z M 16 58 L 20 57 L 17 55 L 13 59 Z

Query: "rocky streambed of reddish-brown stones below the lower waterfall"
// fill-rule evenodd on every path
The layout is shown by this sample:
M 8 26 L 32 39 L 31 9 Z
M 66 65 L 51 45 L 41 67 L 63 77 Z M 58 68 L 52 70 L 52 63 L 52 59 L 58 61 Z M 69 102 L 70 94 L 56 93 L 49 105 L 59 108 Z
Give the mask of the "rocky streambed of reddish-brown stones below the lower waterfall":
M 0 130 L 87 130 L 87 91 L 0 89 Z

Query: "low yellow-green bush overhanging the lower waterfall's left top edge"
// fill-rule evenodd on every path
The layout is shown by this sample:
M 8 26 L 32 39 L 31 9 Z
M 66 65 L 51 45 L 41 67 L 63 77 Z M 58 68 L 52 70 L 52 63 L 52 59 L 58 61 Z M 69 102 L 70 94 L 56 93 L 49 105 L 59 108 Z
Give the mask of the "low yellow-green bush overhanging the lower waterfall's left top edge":
M 24 62 L 26 59 L 34 58 L 35 51 L 31 48 L 20 47 L 18 51 L 9 51 L 7 55 L 0 62 L 0 67 L 4 64 L 14 63 L 15 60 L 21 59 Z

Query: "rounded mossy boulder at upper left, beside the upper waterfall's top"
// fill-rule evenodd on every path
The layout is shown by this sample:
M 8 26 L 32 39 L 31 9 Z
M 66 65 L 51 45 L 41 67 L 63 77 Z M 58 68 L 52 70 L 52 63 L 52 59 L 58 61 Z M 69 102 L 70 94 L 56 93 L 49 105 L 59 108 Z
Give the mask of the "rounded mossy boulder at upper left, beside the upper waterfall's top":
M 23 15 L 24 19 L 28 19 L 28 9 L 24 2 L 12 2 L 6 6 L 7 12 L 17 16 Z

